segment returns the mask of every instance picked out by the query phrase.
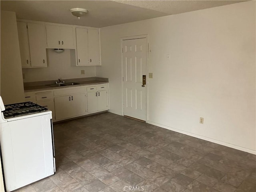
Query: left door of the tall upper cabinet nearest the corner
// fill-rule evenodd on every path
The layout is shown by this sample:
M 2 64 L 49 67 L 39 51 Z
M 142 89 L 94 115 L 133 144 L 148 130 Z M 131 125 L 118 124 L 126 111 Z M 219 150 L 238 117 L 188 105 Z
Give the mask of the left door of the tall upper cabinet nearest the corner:
M 88 65 L 87 29 L 76 28 L 77 65 Z

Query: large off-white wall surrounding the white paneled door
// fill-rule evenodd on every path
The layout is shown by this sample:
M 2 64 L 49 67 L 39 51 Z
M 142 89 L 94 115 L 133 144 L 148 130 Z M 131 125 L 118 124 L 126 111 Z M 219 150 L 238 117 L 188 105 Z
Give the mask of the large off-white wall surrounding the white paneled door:
M 148 34 L 148 122 L 256 153 L 255 9 L 250 1 L 101 28 L 96 76 L 109 78 L 110 112 L 122 114 L 120 38 Z

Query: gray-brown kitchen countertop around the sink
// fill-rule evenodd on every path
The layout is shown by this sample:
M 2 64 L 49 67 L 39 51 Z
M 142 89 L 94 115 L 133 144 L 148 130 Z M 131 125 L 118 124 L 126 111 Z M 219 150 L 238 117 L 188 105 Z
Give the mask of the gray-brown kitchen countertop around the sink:
M 66 83 L 69 82 L 78 82 L 78 85 L 70 85 L 70 86 L 60 86 L 60 87 L 50 87 L 48 84 L 54 84 L 55 81 L 42 81 L 42 82 L 29 82 L 24 83 L 24 92 L 30 91 L 40 91 L 40 90 L 50 90 L 50 89 L 61 89 L 67 87 L 76 87 L 76 86 L 84 86 L 84 85 L 93 85 L 93 84 L 102 84 L 108 83 L 108 78 L 80 78 L 80 79 L 65 79 Z

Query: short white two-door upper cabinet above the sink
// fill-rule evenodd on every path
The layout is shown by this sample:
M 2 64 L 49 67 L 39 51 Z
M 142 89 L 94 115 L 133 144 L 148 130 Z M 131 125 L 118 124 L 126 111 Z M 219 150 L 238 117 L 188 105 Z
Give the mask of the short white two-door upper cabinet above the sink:
M 71 26 L 46 24 L 47 48 L 74 49 L 74 34 Z

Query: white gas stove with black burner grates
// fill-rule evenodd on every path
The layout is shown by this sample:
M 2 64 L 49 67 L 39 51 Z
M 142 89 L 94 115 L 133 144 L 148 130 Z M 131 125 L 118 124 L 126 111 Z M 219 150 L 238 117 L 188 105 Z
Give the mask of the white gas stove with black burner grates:
M 0 144 L 6 191 L 54 174 L 52 112 L 24 102 L 5 105 L 0 96 Z

